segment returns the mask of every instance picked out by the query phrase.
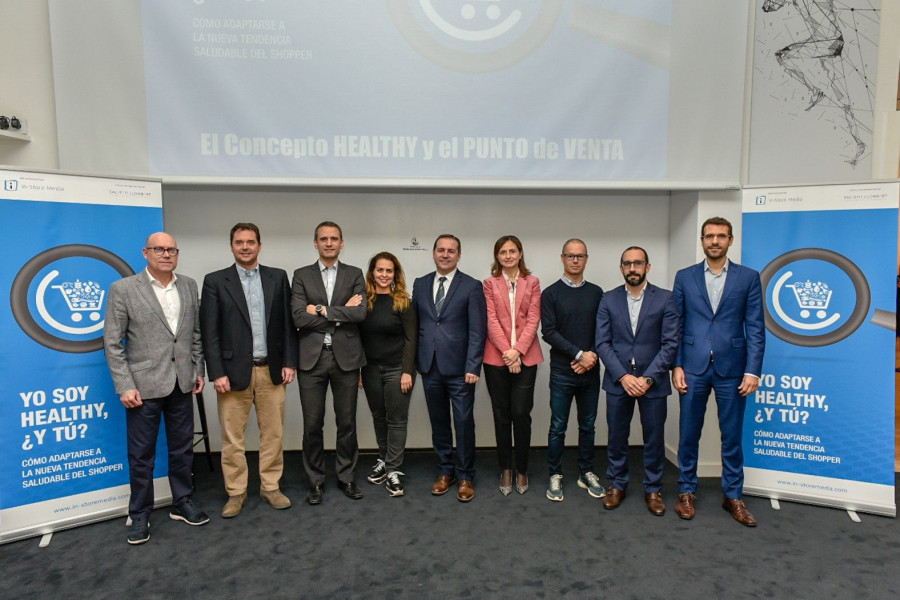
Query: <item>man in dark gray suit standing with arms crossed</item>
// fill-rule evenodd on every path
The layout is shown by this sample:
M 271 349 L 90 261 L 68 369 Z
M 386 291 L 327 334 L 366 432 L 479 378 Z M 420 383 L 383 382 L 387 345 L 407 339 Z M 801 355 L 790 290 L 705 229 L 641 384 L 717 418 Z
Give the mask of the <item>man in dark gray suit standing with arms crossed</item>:
M 357 267 L 338 261 L 344 235 L 337 223 L 319 223 L 313 234 L 319 260 L 294 271 L 291 313 L 299 333 L 300 405 L 303 408 L 303 468 L 309 478 L 309 504 L 324 498 L 325 396 L 334 399 L 335 470 L 338 487 L 353 500 L 362 498 L 356 485 L 359 444 L 356 437 L 356 395 L 359 369 L 366 364 L 359 323 L 366 318 L 366 283 Z

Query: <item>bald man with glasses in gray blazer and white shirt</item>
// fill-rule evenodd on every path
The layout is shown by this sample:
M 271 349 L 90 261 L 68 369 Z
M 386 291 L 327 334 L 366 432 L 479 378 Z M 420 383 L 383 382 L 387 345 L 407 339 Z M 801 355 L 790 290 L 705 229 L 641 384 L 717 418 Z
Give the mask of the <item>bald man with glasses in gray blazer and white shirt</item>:
M 204 525 L 209 517 L 191 500 L 193 393 L 203 390 L 197 283 L 176 276 L 178 246 L 154 233 L 143 249 L 147 268 L 109 289 L 103 346 L 116 393 L 125 405 L 131 499 L 129 544 L 150 539 L 153 466 L 160 417 L 169 449 L 169 517 Z

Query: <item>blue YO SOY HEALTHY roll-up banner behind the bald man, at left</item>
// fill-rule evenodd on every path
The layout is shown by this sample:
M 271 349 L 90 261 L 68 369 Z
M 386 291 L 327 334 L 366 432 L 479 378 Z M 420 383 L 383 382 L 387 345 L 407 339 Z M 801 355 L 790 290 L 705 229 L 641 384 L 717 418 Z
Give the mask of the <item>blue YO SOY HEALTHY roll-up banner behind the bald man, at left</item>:
M 109 286 L 162 229 L 159 182 L 0 171 L 0 542 L 127 514 L 124 407 L 103 353 Z M 165 484 L 165 451 L 154 478 Z M 167 487 L 165 488 L 168 489 Z

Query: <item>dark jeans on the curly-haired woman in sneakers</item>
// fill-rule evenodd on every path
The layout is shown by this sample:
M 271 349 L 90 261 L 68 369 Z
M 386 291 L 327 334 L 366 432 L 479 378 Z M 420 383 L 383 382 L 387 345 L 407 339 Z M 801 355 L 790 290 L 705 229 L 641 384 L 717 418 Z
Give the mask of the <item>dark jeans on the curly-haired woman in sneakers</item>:
M 372 423 L 375 426 L 375 440 L 378 442 L 378 456 L 384 461 L 385 469 L 399 471 L 406 449 L 406 426 L 409 420 L 409 396 L 400 391 L 400 367 L 367 365 L 362 369 L 363 389 Z

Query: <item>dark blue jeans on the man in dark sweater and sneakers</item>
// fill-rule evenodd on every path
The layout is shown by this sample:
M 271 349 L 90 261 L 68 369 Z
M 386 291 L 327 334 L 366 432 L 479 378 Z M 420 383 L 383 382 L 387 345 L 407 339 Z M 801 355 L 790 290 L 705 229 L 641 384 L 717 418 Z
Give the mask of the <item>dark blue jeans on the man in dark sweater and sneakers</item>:
M 578 468 L 581 473 L 594 470 L 594 421 L 600 399 L 597 371 L 584 375 L 550 371 L 550 433 L 547 435 L 547 462 L 550 475 L 562 474 L 562 454 L 572 398 L 578 411 Z

